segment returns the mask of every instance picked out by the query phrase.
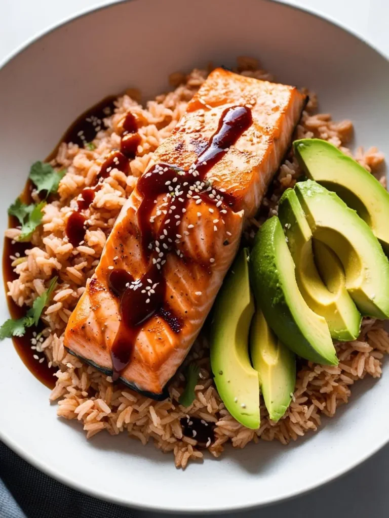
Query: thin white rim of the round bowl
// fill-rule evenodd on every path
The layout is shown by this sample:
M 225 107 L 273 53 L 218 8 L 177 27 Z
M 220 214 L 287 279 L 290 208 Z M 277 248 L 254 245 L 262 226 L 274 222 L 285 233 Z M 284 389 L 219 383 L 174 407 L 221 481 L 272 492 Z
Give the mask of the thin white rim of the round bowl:
M 22 54 L 27 48 L 29 48 L 31 45 L 35 44 L 39 40 L 43 39 L 45 36 L 51 34 L 52 32 L 56 31 L 57 29 L 61 28 L 64 25 L 71 24 L 74 21 L 84 18 L 88 15 L 90 15 L 92 12 L 109 9 L 112 8 L 118 4 L 124 4 L 124 3 L 130 3 L 134 0 L 103 0 L 102 3 L 86 7 L 85 9 L 80 9 L 74 13 L 74 15 L 64 17 L 58 22 L 55 22 L 54 24 L 50 25 L 48 28 L 38 32 L 34 36 L 30 37 L 26 41 L 24 41 L 21 45 L 19 45 L 15 50 L 8 53 L 5 58 L 0 62 L 0 73 L 3 68 L 6 67 L 8 63 L 10 63 L 13 59 L 15 59 L 19 54 Z M 141 0 L 137 0 L 138 2 Z M 311 15 L 315 18 L 318 18 L 320 20 L 323 20 L 324 22 L 334 25 L 340 30 L 342 30 L 345 33 L 350 34 L 355 39 L 362 41 L 367 47 L 369 47 L 371 50 L 379 54 L 385 61 L 389 63 L 389 53 L 385 53 L 383 50 L 379 49 L 375 44 L 373 44 L 368 38 L 360 34 L 355 29 L 351 28 L 349 25 L 340 22 L 336 20 L 334 17 L 327 15 L 324 13 L 321 9 L 311 8 L 307 6 L 299 6 L 295 5 L 294 0 L 262 0 L 264 2 L 269 2 L 273 4 L 280 4 L 282 6 L 285 6 L 289 9 L 293 9 L 296 11 L 301 11 L 303 13 L 307 13 L 308 15 Z M 367 461 L 368 458 L 370 458 L 372 455 L 377 453 L 381 448 L 383 448 L 388 442 L 389 442 L 389 434 L 387 438 L 381 440 L 381 442 L 374 443 L 365 453 L 364 455 L 351 460 L 346 466 L 343 466 L 342 468 L 338 469 L 334 473 L 331 474 L 331 476 L 324 476 L 322 479 L 316 480 L 312 482 L 310 485 L 306 486 L 305 488 L 293 492 L 293 493 L 285 493 L 280 498 L 274 499 L 272 497 L 268 499 L 262 500 L 260 503 L 256 503 L 253 505 L 248 506 L 242 506 L 240 504 L 237 504 L 236 506 L 228 506 L 223 507 L 219 506 L 218 508 L 214 508 L 212 510 L 209 510 L 207 508 L 201 508 L 196 510 L 188 510 L 188 508 L 185 507 L 169 507 L 165 505 L 159 505 L 158 503 L 153 502 L 147 502 L 147 503 L 135 503 L 130 502 L 128 499 L 124 497 L 117 497 L 109 493 L 102 494 L 101 492 L 95 492 L 92 487 L 86 486 L 83 483 L 74 482 L 72 479 L 68 478 L 65 475 L 62 475 L 62 473 L 55 471 L 54 468 L 51 468 L 48 464 L 39 461 L 34 457 L 33 453 L 30 453 L 29 451 L 25 450 L 23 447 L 21 447 L 17 441 L 13 440 L 10 436 L 2 432 L 0 429 L 0 440 L 2 440 L 7 447 L 9 447 L 13 452 L 18 454 L 20 457 L 22 457 L 26 462 L 30 463 L 32 466 L 34 466 L 36 469 L 44 472 L 47 476 L 52 477 L 54 480 L 57 480 L 58 482 L 65 484 L 69 487 L 72 487 L 76 491 L 79 491 L 81 493 L 87 494 L 89 496 L 92 496 L 94 498 L 98 498 L 99 500 L 108 501 L 110 503 L 114 503 L 116 505 L 124 506 L 124 507 L 133 507 L 137 510 L 142 511 L 157 511 L 157 512 L 169 512 L 173 514 L 178 513 L 185 513 L 185 514 L 201 514 L 201 513 L 209 513 L 209 514 L 216 514 L 220 512 L 233 512 L 233 511 L 249 511 L 254 509 L 259 509 L 262 507 L 267 507 L 271 505 L 275 505 L 276 503 L 283 503 L 288 500 L 297 498 L 299 496 L 305 495 L 321 486 L 324 486 L 330 482 L 335 481 L 336 479 L 342 477 L 345 473 L 348 473 L 352 470 L 354 470 L 357 466 L 362 465 Z

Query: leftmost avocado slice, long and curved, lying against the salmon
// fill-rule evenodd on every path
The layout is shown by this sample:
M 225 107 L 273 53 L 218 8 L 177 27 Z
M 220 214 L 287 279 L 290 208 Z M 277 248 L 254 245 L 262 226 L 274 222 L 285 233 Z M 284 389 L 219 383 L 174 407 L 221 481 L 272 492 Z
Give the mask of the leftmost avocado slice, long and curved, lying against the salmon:
M 248 249 L 228 272 L 214 305 L 211 367 L 217 391 L 230 414 L 247 428 L 260 425 L 259 377 L 248 356 L 254 300 L 248 279 Z

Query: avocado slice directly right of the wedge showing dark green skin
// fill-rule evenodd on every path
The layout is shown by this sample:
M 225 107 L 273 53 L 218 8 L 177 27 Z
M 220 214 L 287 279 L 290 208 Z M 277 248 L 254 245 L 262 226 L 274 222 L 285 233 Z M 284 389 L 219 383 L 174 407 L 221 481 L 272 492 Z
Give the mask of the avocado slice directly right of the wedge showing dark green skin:
M 355 340 L 359 335 L 361 316 L 345 289 L 343 267 L 332 257 L 326 268 L 332 287 L 329 290 L 317 271 L 311 228 L 293 189 L 287 189 L 281 197 L 279 218 L 296 266 L 297 285 L 305 302 L 312 311 L 324 316 L 332 339 Z

